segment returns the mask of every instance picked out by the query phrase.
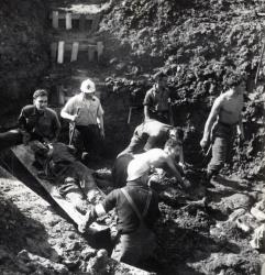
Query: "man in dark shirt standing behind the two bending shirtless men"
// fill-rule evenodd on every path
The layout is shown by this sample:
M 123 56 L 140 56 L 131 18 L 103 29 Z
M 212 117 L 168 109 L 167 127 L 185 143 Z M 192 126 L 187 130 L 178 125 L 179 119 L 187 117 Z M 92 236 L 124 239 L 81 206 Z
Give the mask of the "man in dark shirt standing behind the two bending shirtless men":
M 143 106 L 144 120 L 156 119 L 161 122 L 169 121 L 170 92 L 166 88 L 167 76 L 163 72 L 155 75 L 156 84 L 147 90 Z

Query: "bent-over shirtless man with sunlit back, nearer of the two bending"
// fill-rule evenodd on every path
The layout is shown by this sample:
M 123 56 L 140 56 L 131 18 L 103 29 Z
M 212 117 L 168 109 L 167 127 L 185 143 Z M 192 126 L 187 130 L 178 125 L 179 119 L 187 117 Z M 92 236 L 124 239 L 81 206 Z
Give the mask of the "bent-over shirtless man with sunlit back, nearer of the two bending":
M 125 179 L 128 177 L 126 168 L 132 160 L 140 163 L 145 163 L 152 168 L 163 168 L 169 170 L 170 174 L 175 176 L 177 182 L 185 188 L 184 179 L 181 178 L 183 168 L 178 164 L 179 155 L 181 152 L 181 143 L 178 140 L 169 139 L 164 150 L 162 148 L 151 148 L 150 151 L 142 154 L 131 154 L 126 153 L 120 155 L 112 168 L 112 179 L 115 187 L 124 186 Z

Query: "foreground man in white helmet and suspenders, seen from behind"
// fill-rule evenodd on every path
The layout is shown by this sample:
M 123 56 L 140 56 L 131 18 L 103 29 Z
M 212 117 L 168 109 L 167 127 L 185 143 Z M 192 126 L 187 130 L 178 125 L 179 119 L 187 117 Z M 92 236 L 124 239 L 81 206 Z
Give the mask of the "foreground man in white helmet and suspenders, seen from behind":
M 147 186 L 150 169 L 146 162 L 133 160 L 128 166 L 126 186 L 111 191 L 78 227 L 85 232 L 97 218 L 115 208 L 119 234 L 111 257 L 131 265 L 150 257 L 156 246 L 152 229 L 159 217 L 158 195 Z

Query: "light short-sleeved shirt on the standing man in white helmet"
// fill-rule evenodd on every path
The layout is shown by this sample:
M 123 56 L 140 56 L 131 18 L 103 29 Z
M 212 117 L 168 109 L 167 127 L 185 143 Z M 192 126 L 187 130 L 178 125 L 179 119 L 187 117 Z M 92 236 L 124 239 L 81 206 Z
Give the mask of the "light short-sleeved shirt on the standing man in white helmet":
M 78 94 L 70 98 L 64 111 L 69 114 L 76 114 L 79 109 L 79 117 L 76 120 L 77 125 L 98 124 L 97 118 L 103 116 L 103 109 L 100 100 L 93 96 L 91 99 L 86 99 L 84 94 Z

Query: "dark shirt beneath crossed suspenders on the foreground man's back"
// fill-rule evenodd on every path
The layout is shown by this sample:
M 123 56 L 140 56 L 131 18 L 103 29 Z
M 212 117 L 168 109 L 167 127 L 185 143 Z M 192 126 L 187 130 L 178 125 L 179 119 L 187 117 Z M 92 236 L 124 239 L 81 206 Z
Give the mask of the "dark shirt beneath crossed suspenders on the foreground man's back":
M 142 213 L 144 211 L 148 191 L 151 189 L 146 185 L 143 185 L 137 180 L 129 182 L 123 188 L 125 188 L 125 190 L 136 205 L 140 213 Z M 151 191 L 152 198 L 150 207 L 145 217 L 143 217 L 146 227 L 150 229 L 154 227 L 154 223 L 158 219 L 161 213 L 158 208 L 158 195 L 154 190 Z M 110 211 L 113 208 L 117 209 L 118 230 L 120 233 L 131 233 L 139 228 L 140 220 L 132 206 L 129 204 L 125 196 L 121 193 L 120 189 L 114 189 L 113 191 L 111 191 L 106 197 L 102 206 L 106 212 Z

